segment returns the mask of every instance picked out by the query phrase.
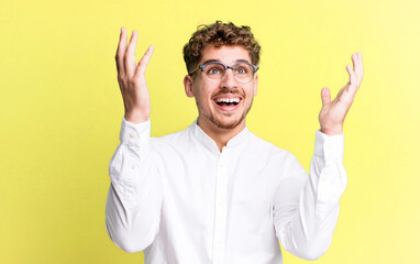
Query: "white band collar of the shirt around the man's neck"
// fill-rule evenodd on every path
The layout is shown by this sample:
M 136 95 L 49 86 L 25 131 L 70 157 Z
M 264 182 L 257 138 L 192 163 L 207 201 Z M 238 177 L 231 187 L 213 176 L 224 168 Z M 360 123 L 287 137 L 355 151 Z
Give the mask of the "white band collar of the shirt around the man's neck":
M 209 147 L 211 151 L 217 151 L 220 153 L 218 145 L 211 139 L 206 132 L 197 124 L 198 118 L 189 125 L 189 129 L 191 130 L 194 136 L 200 141 L 205 146 Z M 235 136 L 233 136 L 230 141 L 228 141 L 226 146 L 230 147 L 236 147 L 243 144 L 250 134 L 250 130 L 245 125 L 245 128 Z

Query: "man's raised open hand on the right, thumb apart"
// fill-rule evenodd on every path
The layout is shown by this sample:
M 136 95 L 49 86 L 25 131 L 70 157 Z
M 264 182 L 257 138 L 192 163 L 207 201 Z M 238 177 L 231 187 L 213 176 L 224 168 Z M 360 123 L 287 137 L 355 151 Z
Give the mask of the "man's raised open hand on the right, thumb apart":
M 328 135 L 341 134 L 345 116 L 353 103 L 354 96 L 363 80 L 362 53 L 352 54 L 353 69 L 346 66 L 349 82 L 341 88 L 339 95 L 331 101 L 330 90 L 324 87 L 321 90 L 322 109 L 319 113 L 321 132 Z

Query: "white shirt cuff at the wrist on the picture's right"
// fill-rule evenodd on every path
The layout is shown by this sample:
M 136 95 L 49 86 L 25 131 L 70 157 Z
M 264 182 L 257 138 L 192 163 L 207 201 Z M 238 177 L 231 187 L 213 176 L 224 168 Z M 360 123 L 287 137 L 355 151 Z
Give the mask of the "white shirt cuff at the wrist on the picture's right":
M 317 130 L 314 154 L 329 160 L 343 160 L 344 156 L 344 133 L 328 135 Z

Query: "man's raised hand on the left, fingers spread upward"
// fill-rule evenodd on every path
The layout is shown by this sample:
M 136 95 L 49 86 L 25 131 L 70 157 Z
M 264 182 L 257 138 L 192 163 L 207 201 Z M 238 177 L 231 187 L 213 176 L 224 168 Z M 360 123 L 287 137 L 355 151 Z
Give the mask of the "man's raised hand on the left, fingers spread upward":
M 124 101 L 124 118 L 132 123 L 147 121 L 151 114 L 151 99 L 144 73 L 154 47 L 151 45 L 139 64 L 136 64 L 134 54 L 136 43 L 137 32 L 133 31 L 129 46 L 126 46 L 126 31 L 121 28 L 115 55 L 118 82 Z

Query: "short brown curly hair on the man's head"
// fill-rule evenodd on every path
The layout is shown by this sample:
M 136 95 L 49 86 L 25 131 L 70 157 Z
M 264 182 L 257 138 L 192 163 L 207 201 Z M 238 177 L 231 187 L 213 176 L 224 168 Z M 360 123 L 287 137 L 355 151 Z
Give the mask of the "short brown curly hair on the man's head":
M 210 25 L 197 26 L 197 31 L 184 45 L 184 61 L 188 73 L 197 67 L 202 56 L 201 52 L 208 45 L 215 47 L 242 45 L 250 53 L 252 64 L 258 65 L 261 46 L 251 33 L 251 28 L 246 25 L 236 26 L 232 22 L 215 21 Z

